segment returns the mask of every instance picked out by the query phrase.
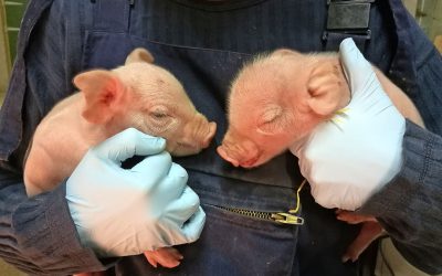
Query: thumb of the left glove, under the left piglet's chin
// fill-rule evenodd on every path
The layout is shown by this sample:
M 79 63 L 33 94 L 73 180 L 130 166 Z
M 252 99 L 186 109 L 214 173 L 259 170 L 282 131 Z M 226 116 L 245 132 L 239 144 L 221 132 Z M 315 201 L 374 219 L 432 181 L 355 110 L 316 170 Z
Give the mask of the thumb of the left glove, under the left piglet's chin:
M 135 128 L 128 128 L 95 148 L 102 158 L 122 162 L 133 156 L 150 156 L 164 151 L 166 140 L 146 135 Z

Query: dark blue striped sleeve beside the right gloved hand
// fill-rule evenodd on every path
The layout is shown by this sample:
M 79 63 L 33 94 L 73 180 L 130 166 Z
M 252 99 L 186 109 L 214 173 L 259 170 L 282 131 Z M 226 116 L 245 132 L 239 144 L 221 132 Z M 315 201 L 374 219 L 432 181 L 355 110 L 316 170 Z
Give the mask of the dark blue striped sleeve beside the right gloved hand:
M 403 164 L 359 213 L 378 219 L 402 256 L 429 274 L 442 273 L 442 138 L 407 121 Z

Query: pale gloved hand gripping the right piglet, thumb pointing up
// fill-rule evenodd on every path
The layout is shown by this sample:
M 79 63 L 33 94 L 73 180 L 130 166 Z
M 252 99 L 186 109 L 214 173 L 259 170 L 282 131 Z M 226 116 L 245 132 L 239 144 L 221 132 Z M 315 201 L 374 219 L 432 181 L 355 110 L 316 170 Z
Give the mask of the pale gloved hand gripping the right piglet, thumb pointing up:
M 351 91 L 345 114 L 291 150 L 318 204 L 354 211 L 399 172 L 406 120 L 351 39 L 339 54 Z

